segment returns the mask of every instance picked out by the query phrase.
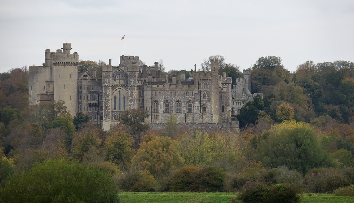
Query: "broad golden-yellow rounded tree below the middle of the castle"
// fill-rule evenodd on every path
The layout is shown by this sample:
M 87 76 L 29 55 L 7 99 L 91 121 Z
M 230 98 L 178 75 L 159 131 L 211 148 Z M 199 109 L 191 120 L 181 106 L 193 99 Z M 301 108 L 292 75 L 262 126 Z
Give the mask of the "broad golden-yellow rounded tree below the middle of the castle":
M 132 159 L 132 168 L 148 170 L 154 177 L 162 177 L 182 165 L 177 150 L 177 142 L 170 137 L 156 137 L 148 143 L 143 142 Z

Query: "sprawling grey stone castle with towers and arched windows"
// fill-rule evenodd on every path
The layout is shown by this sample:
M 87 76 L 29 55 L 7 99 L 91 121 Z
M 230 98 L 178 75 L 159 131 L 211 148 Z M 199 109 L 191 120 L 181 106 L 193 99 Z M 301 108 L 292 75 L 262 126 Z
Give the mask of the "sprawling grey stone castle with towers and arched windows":
M 120 57 L 119 66 L 102 66 L 102 78 L 78 72 L 79 55 L 70 53 L 71 44 L 63 43 L 63 50 L 46 49 L 42 66 L 29 66 L 29 102 L 65 102 L 74 116 L 81 111 L 90 115 L 91 122 L 104 130 L 118 123 L 118 115 L 129 109 L 146 109 L 149 117 L 144 123 L 163 127 L 170 113 L 177 117 L 178 126 L 222 128 L 238 130 L 235 119 L 239 109 L 252 100 L 251 71 L 244 70 L 243 78 L 219 75 L 218 60 L 211 61 L 210 72 L 194 71 L 161 77 L 158 62 L 154 66 L 138 66 L 138 56 Z

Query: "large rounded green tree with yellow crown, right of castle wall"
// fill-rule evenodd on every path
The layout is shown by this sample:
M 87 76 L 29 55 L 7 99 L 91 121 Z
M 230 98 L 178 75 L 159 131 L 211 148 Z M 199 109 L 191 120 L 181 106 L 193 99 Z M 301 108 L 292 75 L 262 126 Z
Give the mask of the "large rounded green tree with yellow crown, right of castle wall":
M 309 124 L 284 121 L 263 133 L 258 143 L 258 159 L 267 167 L 288 166 L 306 173 L 332 163 Z

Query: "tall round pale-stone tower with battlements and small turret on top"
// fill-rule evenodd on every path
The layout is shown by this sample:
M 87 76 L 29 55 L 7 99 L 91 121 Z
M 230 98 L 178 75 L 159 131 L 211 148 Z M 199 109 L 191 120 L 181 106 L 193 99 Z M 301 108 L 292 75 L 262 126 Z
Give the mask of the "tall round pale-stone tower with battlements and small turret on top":
M 52 54 L 52 78 L 54 81 L 54 101 L 63 100 L 70 114 L 76 115 L 78 111 L 78 53 L 70 54 L 71 43 L 63 43 L 63 52 L 57 49 Z

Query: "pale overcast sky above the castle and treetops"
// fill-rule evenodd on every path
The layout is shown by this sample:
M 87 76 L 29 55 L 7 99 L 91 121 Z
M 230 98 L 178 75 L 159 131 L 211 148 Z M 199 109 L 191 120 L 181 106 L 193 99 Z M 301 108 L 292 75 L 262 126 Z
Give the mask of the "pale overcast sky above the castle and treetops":
M 354 61 L 353 0 L 0 0 L 0 72 L 42 65 L 45 49 L 72 44 L 81 60 L 119 65 L 123 54 L 166 70 L 209 55 L 246 69 L 279 56 L 290 71 L 307 60 Z

